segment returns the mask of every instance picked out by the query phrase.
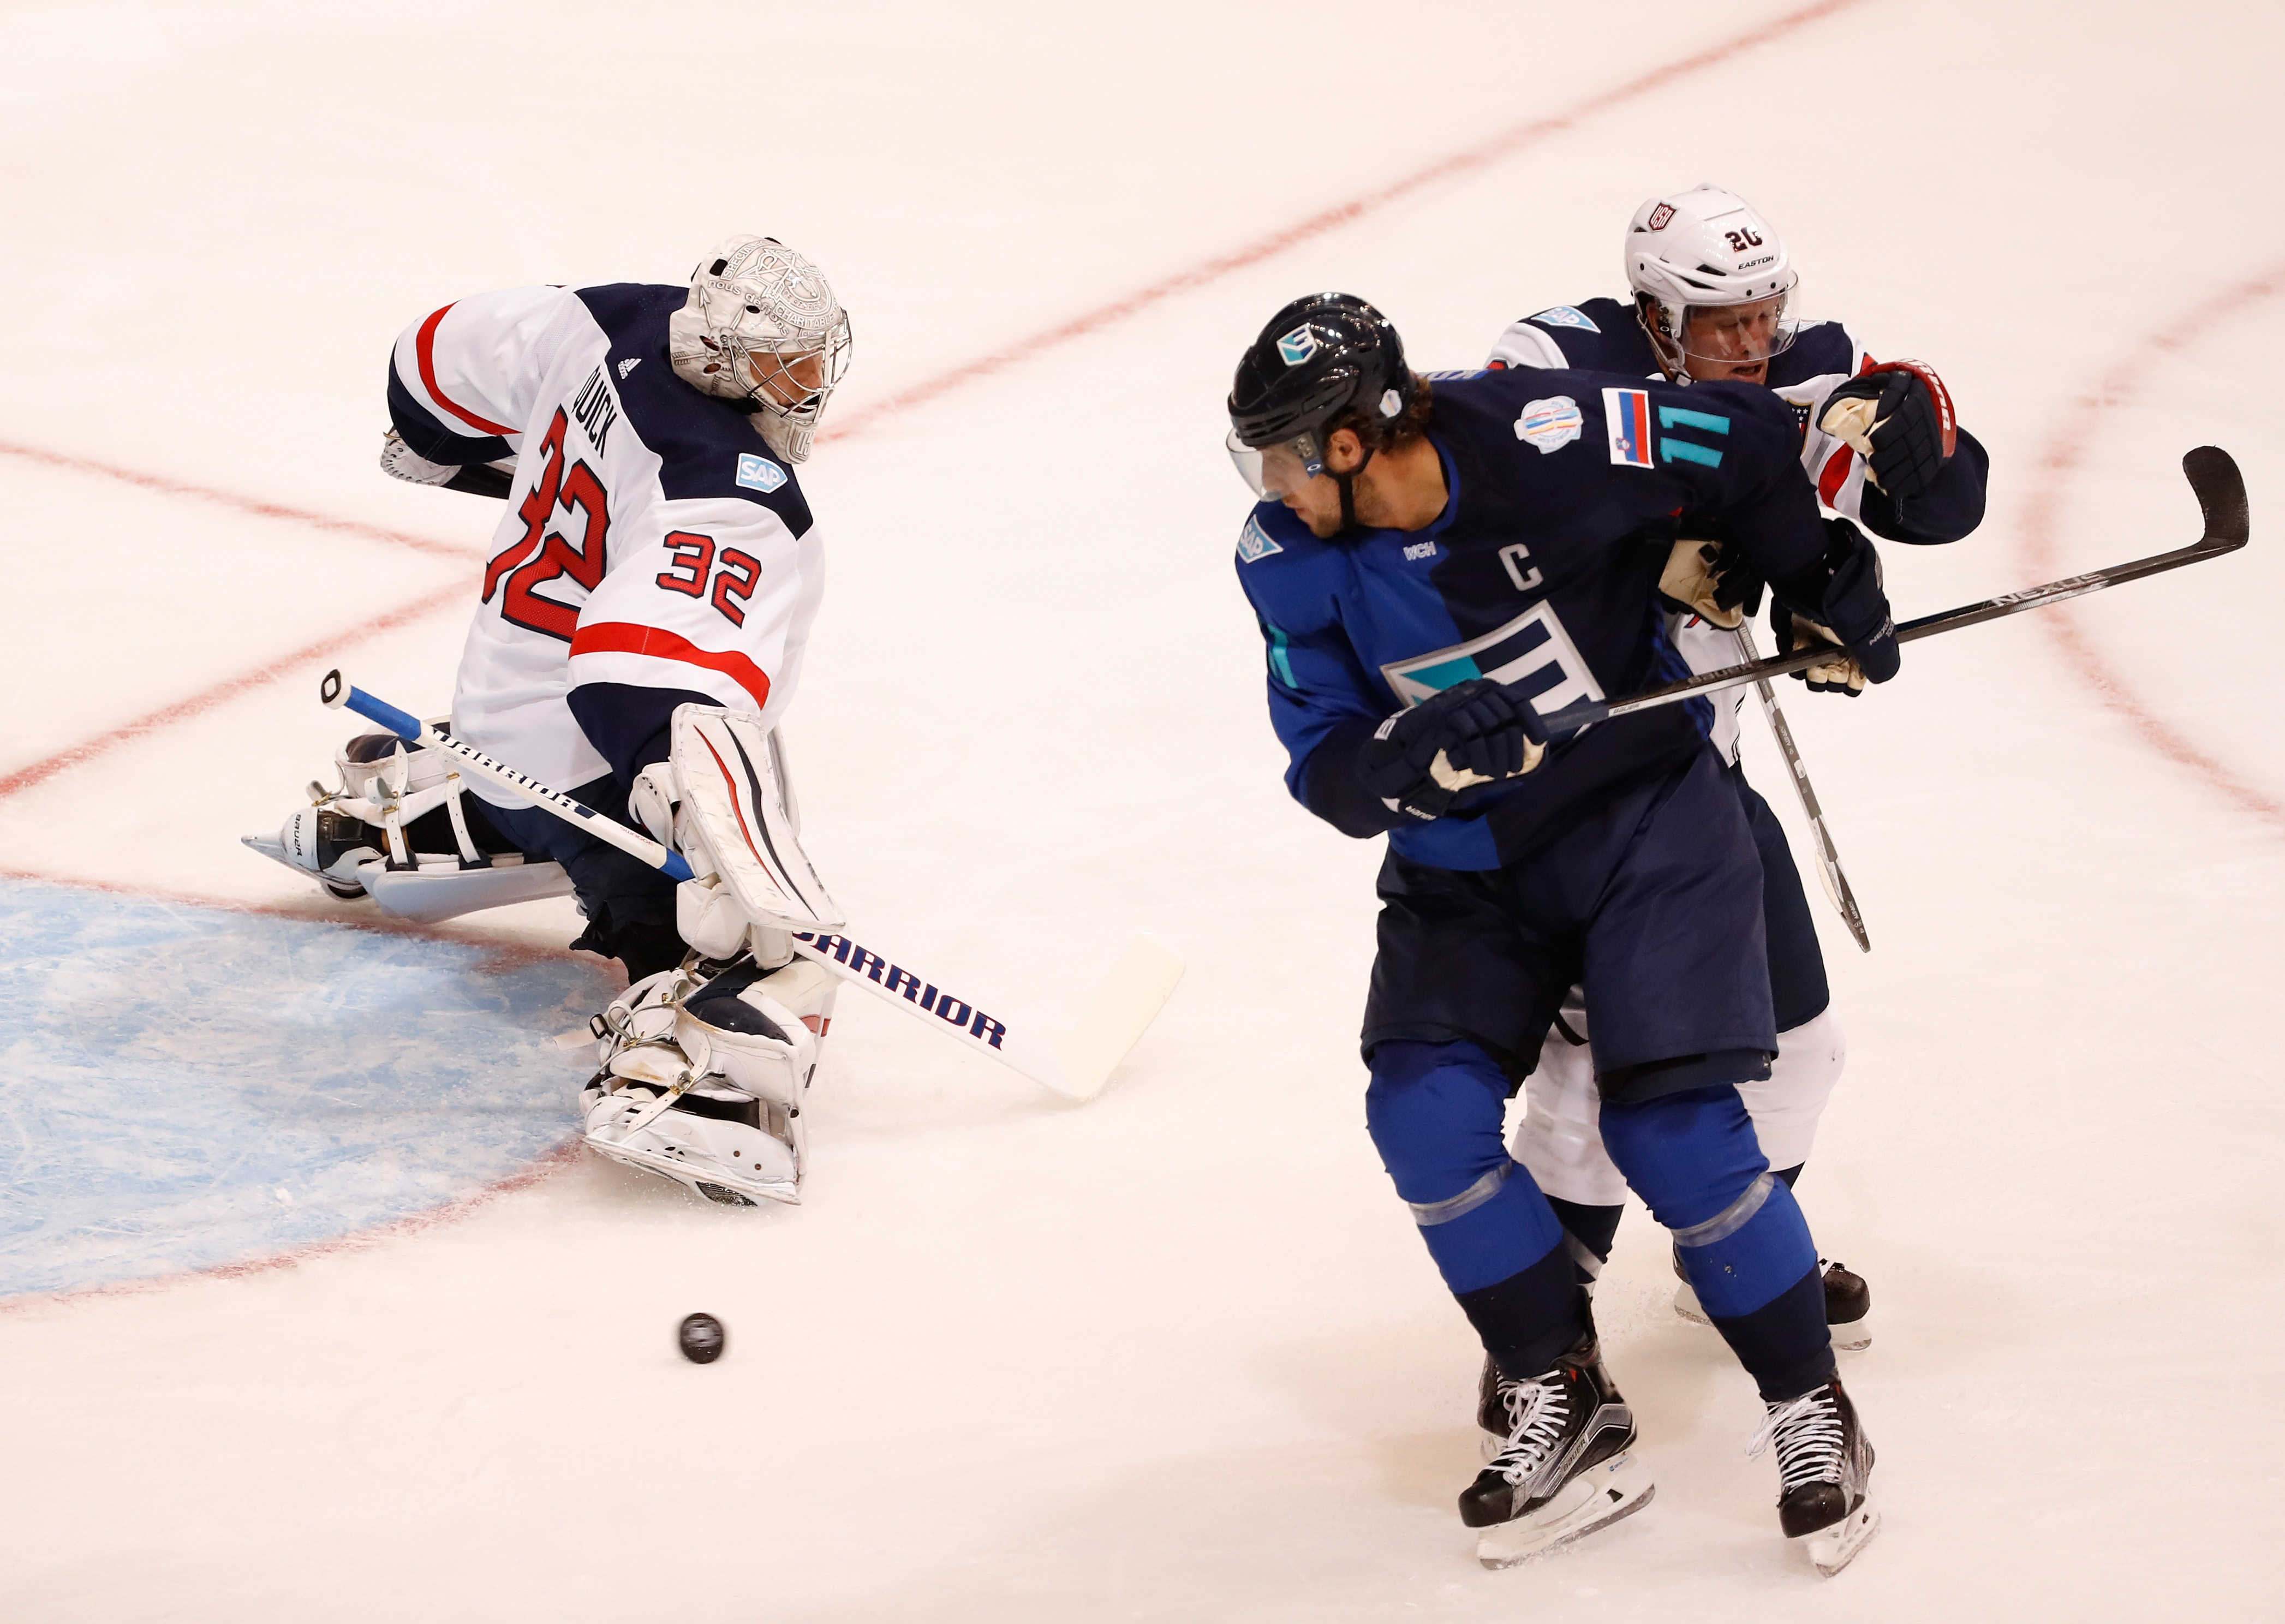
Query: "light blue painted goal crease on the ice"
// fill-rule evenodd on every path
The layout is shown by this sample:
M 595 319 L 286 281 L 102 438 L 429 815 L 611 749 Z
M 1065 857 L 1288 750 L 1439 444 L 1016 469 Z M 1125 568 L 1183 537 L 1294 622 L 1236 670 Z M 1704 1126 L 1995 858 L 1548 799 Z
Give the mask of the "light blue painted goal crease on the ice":
M 270 1256 L 512 1176 L 574 1133 L 610 996 L 384 936 L 0 882 L 0 1297 Z

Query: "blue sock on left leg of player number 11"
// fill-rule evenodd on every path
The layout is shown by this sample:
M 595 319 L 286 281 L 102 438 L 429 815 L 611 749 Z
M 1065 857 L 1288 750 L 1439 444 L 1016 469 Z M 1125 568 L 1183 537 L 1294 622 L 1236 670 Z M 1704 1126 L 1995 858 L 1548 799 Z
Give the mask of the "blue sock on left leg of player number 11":
M 1508 1078 L 1474 1044 L 1380 1044 L 1364 1119 L 1485 1350 L 1536 1375 L 1586 1334 L 1563 1227 L 1504 1140 Z M 1538 1359 L 1538 1364 L 1529 1364 Z

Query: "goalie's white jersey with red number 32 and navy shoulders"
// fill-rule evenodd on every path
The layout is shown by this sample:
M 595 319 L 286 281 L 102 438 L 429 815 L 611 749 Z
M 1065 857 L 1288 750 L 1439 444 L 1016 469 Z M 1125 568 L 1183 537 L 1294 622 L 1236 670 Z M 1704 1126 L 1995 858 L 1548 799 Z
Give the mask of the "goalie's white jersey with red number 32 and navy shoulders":
M 452 731 L 542 783 L 624 770 L 574 717 L 574 690 L 665 690 L 768 726 L 800 683 L 818 534 L 752 418 L 670 365 L 667 317 L 686 299 L 516 288 L 448 304 L 395 345 L 391 418 L 420 457 L 516 459 Z

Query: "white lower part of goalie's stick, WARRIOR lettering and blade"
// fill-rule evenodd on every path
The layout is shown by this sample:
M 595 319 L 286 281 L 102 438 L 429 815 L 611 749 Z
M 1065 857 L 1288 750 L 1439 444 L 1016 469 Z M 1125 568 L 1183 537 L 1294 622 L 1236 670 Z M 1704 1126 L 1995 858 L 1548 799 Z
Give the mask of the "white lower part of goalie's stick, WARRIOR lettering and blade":
M 960 1042 L 962 1048 L 999 1060 L 1033 1083 L 1081 1103 L 1104 1092 L 1104 1083 L 1117 1071 L 1127 1051 L 1158 1019 L 1158 1010 L 1165 1007 L 1184 971 L 1181 959 L 1161 943 L 1136 936 L 1104 984 L 1095 989 L 1079 1026 L 1058 1039 L 1047 1039 L 1037 1021 L 1021 1019 L 1005 1007 L 994 1014 L 951 989 L 939 989 L 919 971 L 905 968 L 905 962 L 893 962 L 850 936 L 795 932 L 793 946 L 841 980 L 864 987 L 875 998 L 884 998 L 912 1019 Z

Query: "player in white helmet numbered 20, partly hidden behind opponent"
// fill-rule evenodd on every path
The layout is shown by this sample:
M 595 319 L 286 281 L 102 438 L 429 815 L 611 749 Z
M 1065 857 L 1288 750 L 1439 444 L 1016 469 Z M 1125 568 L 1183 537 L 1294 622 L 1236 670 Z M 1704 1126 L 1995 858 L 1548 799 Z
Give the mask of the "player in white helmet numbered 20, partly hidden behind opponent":
M 1700 185 L 1645 201 L 1627 226 L 1631 299 L 1563 304 L 1513 322 L 1492 349 L 1492 368 L 1595 368 L 1673 381 L 1764 384 L 1801 418 L 1801 464 L 1819 500 L 1887 541 L 1940 544 L 1983 516 L 1983 448 L 1958 427 L 1951 395 L 1917 363 L 1876 363 L 1839 322 L 1791 320 L 1796 272 L 1785 242 L 1743 199 Z M 1659 582 L 1677 605 L 1675 646 L 1695 672 L 1739 665 L 1734 628 L 1757 585 L 1723 571 L 1718 537 L 1677 539 Z M 1814 637 L 1791 617 L 1780 646 Z M 1803 674 L 1812 690 L 1855 694 L 1865 678 L 1846 658 Z M 1775 1176 L 1791 1183 L 1807 1160 L 1833 1085 L 1846 1060 L 1830 1010 L 1823 957 L 1801 873 L 1769 804 L 1739 767 L 1739 710 L 1746 690 L 1716 694 L 1714 747 L 1730 765 L 1764 868 L 1764 925 L 1778 1012 L 1778 1058 L 1766 1083 L 1741 1083 L 1755 1133 Z M 1526 1112 L 1515 1158 L 1547 1190 L 1572 1238 L 1586 1279 L 1602 1268 L 1618 1231 L 1625 1181 L 1597 1131 L 1590 1012 L 1579 994 L 1563 1010 L 1540 1067 L 1524 1085 Z M 1826 1268 L 1826 1309 L 1837 1348 L 1871 1341 L 1871 1293 L 1862 1277 Z M 1702 1318 L 1684 1281 L 1675 1309 Z

